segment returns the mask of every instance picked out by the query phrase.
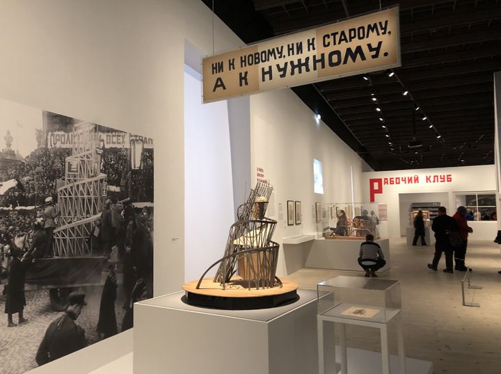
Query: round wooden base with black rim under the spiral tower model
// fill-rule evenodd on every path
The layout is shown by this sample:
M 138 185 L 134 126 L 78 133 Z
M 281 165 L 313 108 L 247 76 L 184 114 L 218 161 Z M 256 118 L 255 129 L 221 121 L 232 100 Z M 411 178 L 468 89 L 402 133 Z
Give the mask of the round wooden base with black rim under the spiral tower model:
M 196 288 L 198 281 L 186 283 L 182 286 L 186 291 L 184 301 L 198 307 L 216 309 L 248 310 L 280 307 L 299 298 L 296 290 L 298 284 L 287 279 L 281 279 L 282 285 L 273 288 L 248 289 L 245 281 L 240 277 L 233 277 L 225 289 L 212 278 L 205 278 Z

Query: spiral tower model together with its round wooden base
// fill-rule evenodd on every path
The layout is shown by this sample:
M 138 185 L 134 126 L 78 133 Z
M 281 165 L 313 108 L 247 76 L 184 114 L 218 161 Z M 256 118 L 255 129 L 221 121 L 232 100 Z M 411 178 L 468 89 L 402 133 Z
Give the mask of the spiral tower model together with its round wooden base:
M 273 187 L 259 182 L 237 209 L 224 256 L 200 279 L 184 284 L 189 304 L 221 309 L 275 307 L 296 298 L 297 284 L 276 277 L 280 245 L 271 240 L 277 224 L 265 216 Z M 204 278 L 218 266 L 214 278 Z M 238 273 L 238 275 L 237 275 Z

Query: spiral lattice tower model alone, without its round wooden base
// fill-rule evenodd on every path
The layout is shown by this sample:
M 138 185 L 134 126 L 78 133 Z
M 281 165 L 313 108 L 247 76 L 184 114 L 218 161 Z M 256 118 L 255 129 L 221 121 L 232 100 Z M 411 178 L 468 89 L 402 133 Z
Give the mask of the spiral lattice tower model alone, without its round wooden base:
M 248 289 L 281 285 L 276 277 L 280 245 L 271 241 L 277 222 L 265 217 L 272 191 L 271 185 L 258 182 L 250 190 L 247 201 L 237 209 L 238 220 L 230 227 L 225 255 L 210 267 L 219 263 L 214 282 L 219 282 L 223 289 L 227 284 L 239 282 Z M 239 282 L 232 281 L 237 270 Z

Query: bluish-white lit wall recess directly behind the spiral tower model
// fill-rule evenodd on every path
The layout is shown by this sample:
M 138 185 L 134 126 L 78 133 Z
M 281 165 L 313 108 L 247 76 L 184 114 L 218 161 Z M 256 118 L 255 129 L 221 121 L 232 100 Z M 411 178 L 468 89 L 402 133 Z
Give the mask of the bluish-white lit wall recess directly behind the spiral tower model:
M 228 104 L 202 104 L 200 74 L 184 73 L 184 280 L 224 254 L 234 222 Z M 214 275 L 216 269 L 208 273 Z

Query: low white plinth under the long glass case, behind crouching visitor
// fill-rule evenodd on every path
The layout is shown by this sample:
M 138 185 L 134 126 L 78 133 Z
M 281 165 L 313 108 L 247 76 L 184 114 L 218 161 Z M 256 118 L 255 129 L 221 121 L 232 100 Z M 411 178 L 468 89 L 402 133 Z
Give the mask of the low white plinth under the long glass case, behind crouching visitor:
M 379 271 L 388 270 L 390 268 L 390 241 L 388 239 L 378 239 L 375 242 L 383 250 L 386 261 L 386 265 Z M 308 253 L 305 267 L 363 271 L 357 261 L 360 244 L 362 243 L 363 241 L 343 239 L 315 239 L 312 249 Z

